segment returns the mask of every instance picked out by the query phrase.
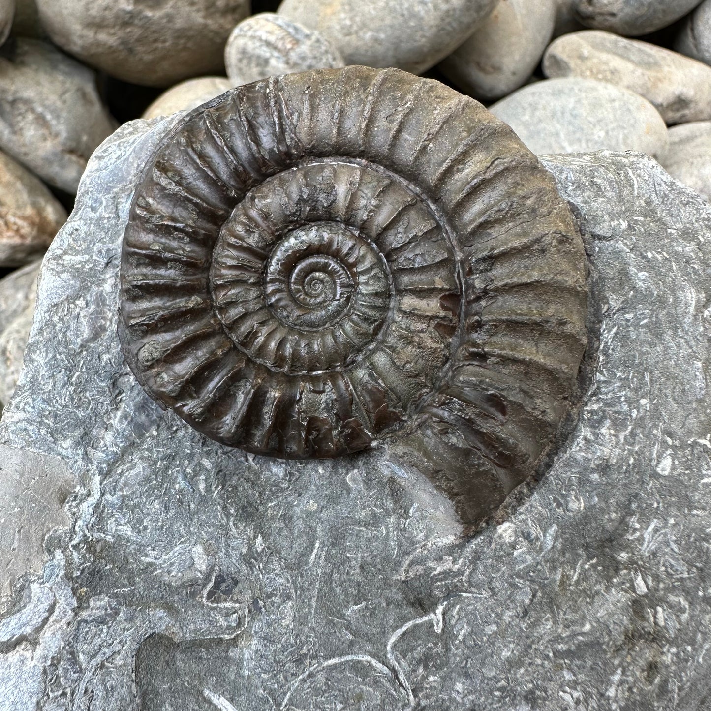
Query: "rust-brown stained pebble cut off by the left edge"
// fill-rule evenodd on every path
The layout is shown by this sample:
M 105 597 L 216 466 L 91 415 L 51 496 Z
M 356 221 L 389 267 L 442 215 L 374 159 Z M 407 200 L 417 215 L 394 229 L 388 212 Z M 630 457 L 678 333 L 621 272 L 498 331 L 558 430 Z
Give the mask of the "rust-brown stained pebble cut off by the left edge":
M 42 255 L 66 220 L 42 181 L 0 151 L 0 267 Z

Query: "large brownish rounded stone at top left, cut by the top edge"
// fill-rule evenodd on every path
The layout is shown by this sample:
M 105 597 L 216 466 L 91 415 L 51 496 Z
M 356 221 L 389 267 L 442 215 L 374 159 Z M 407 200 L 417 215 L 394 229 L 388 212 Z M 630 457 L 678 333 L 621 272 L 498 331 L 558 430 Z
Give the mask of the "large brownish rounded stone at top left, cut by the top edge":
M 127 82 L 169 86 L 223 72 L 232 28 L 249 0 L 37 0 L 50 38 Z

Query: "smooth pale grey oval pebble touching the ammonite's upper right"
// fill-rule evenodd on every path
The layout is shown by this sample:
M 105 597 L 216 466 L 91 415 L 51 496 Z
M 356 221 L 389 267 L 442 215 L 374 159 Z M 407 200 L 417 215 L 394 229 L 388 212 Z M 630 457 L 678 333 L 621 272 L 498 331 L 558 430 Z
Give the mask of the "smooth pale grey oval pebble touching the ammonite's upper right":
M 489 108 L 535 153 L 663 153 L 667 129 L 643 97 L 594 79 L 547 79 Z

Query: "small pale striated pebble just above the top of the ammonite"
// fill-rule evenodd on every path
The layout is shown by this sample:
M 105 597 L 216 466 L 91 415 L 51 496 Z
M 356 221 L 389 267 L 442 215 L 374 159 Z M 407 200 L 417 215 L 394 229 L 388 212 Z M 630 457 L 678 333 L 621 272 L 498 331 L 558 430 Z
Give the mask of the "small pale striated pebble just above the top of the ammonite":
M 341 53 L 320 32 L 269 12 L 240 22 L 225 46 L 225 68 L 233 86 L 343 65 Z

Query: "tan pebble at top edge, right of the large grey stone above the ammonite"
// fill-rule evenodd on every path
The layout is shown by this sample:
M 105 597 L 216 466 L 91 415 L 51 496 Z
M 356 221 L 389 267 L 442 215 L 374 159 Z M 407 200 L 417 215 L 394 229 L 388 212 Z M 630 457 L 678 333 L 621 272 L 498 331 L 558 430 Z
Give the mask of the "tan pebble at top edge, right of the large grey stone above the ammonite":
M 556 11 L 555 0 L 501 0 L 439 68 L 467 94 L 500 99 L 533 74 L 552 37 Z

